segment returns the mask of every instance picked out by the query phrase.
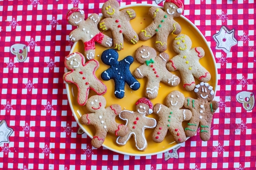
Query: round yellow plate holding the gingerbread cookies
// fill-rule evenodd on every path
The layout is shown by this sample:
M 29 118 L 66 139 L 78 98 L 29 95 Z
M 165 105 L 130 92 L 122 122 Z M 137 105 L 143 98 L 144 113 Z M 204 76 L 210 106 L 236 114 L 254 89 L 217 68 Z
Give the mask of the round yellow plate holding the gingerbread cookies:
M 126 6 L 125 8 L 132 8 L 135 10 L 137 16 L 134 20 L 131 20 L 130 23 L 132 25 L 132 28 L 135 29 L 137 33 L 141 31 L 141 29 L 146 28 L 151 22 L 152 19 L 150 16 L 148 16 L 148 9 L 152 7 L 153 5 L 142 5 L 142 4 L 136 4 L 136 5 L 129 5 Z M 125 9 L 123 8 L 123 9 Z M 213 86 L 213 89 L 216 91 L 217 87 L 217 68 L 216 68 L 216 62 L 213 56 L 213 53 L 210 49 L 210 47 L 207 45 L 207 41 L 205 40 L 204 36 L 202 33 L 198 30 L 195 25 L 190 22 L 188 19 L 186 19 L 184 16 L 180 16 L 178 18 L 175 18 L 175 20 L 182 26 L 182 32 L 186 35 L 189 35 L 189 37 L 192 40 L 192 47 L 196 46 L 201 46 L 204 51 L 205 51 L 205 56 L 200 59 L 200 63 L 202 66 L 204 66 L 210 73 L 211 73 L 211 80 L 209 81 L 209 84 Z M 111 36 L 110 32 L 106 32 L 105 34 Z M 174 57 L 177 55 L 173 49 L 172 49 L 172 42 L 173 39 L 175 38 L 176 35 L 169 35 L 168 37 L 168 49 L 165 51 L 170 55 L 170 58 Z M 147 45 L 154 47 L 155 42 L 155 37 L 151 38 L 150 40 L 147 41 L 139 41 L 137 44 L 132 45 L 130 44 L 127 40 L 124 42 L 124 50 L 118 51 L 119 53 L 119 59 L 122 60 L 124 57 L 131 55 L 135 56 L 135 50 L 139 48 L 141 45 Z M 112 47 L 113 48 L 113 47 Z M 95 59 L 99 61 L 100 68 L 99 70 L 96 71 L 97 77 L 101 79 L 101 73 L 105 71 L 106 69 L 109 68 L 109 66 L 103 64 L 101 61 L 101 53 L 105 51 L 106 48 L 100 46 L 99 44 L 96 44 L 96 53 L 95 53 Z M 83 42 L 77 42 L 74 44 L 72 47 L 70 53 L 73 52 L 80 52 L 83 53 Z M 132 63 L 130 67 L 131 73 L 134 73 L 135 69 L 139 67 L 141 64 L 137 62 L 136 60 Z M 173 72 L 175 75 L 180 77 L 180 73 L 178 71 Z M 102 80 L 103 81 L 103 80 Z M 114 81 L 109 80 L 109 81 L 103 81 L 104 84 L 106 84 L 108 90 L 107 93 L 104 95 L 104 97 L 107 100 L 107 106 L 110 106 L 112 104 L 119 104 L 123 109 L 126 110 L 135 110 L 135 103 L 137 100 L 141 97 L 145 97 L 145 84 L 147 81 L 147 78 L 143 79 L 138 79 L 138 81 L 141 83 L 141 87 L 137 91 L 132 91 L 128 85 L 126 84 L 125 87 L 125 97 L 123 99 L 117 99 L 114 95 Z M 196 84 L 200 83 L 198 80 L 196 80 Z M 94 126 L 91 125 L 83 125 L 81 124 L 81 116 L 85 113 L 89 113 L 88 110 L 86 110 L 85 106 L 80 106 L 77 103 L 77 88 L 74 84 L 66 84 L 67 88 L 67 96 L 68 100 L 70 103 L 70 107 L 72 109 L 73 115 L 79 124 L 79 126 L 83 129 L 83 131 L 90 137 L 92 138 L 95 133 L 95 128 Z M 160 88 L 159 88 L 159 94 L 157 98 L 152 99 L 151 101 L 153 104 L 157 103 L 162 103 L 165 104 L 165 98 L 166 96 L 171 93 L 174 90 L 179 90 L 182 92 L 185 97 L 190 96 L 190 97 L 196 97 L 195 93 L 193 91 L 188 92 L 185 91 L 182 82 L 176 86 L 176 87 L 170 87 L 165 85 L 164 83 L 160 83 Z M 96 95 L 94 91 L 90 91 L 90 96 L 91 95 Z M 89 96 L 89 97 L 90 97 Z M 149 115 L 149 117 L 154 117 L 155 119 L 158 119 L 158 117 L 155 114 Z M 116 119 L 119 123 L 125 124 L 124 121 L 119 119 L 117 117 Z M 184 125 L 187 122 L 184 122 Z M 151 134 L 153 132 L 153 129 L 146 129 L 146 139 L 148 141 L 148 147 L 144 152 L 138 151 L 136 146 L 135 146 L 135 141 L 134 138 L 131 137 L 127 144 L 125 146 L 118 146 L 116 144 L 116 139 L 117 137 L 115 135 L 108 134 L 103 146 L 105 148 L 108 148 L 114 152 L 118 152 L 124 155 L 133 155 L 133 156 L 146 156 L 146 155 L 156 155 L 158 153 L 166 152 L 168 150 L 171 150 L 172 148 L 178 146 L 171 134 L 168 132 L 167 136 L 165 137 L 164 141 L 162 143 L 155 143 L 152 140 Z

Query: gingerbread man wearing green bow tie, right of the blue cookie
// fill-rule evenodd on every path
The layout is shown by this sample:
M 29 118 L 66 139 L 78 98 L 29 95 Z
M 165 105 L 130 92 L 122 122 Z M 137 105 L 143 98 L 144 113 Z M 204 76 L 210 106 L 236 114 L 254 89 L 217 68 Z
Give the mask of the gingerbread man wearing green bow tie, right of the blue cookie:
M 155 49 L 149 46 L 141 46 L 135 52 L 135 59 L 143 64 L 135 70 L 135 77 L 148 77 L 146 85 L 146 97 L 148 99 L 157 97 L 160 82 L 169 86 L 180 84 L 180 78 L 170 73 L 166 68 L 166 62 L 169 60 L 167 53 L 163 52 L 157 55 Z

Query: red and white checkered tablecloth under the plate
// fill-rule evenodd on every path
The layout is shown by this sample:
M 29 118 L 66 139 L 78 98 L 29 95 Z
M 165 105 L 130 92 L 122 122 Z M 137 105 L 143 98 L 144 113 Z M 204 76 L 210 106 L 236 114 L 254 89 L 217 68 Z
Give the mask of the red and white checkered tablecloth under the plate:
M 183 15 L 205 35 L 216 56 L 220 107 L 213 116 L 212 137 L 201 141 L 196 135 L 169 152 L 135 157 L 93 148 L 90 137 L 77 133 L 62 78 L 73 45 L 67 10 L 101 13 L 105 0 L 0 0 L 0 169 L 255 170 L 256 107 L 246 110 L 236 96 L 256 94 L 256 3 L 182 1 Z M 222 28 L 230 35 L 233 30 L 237 43 L 230 51 L 216 49 L 213 35 Z M 14 44 L 27 46 L 24 62 L 13 54 Z

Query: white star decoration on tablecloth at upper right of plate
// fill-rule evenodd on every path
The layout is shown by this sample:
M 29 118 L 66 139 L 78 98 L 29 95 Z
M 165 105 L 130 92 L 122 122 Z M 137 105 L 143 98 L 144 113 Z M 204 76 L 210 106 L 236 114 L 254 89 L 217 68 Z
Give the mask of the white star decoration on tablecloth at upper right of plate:
M 234 38 L 235 30 L 229 31 L 227 27 L 222 26 L 220 31 L 213 35 L 213 39 L 216 41 L 216 49 L 223 50 L 225 53 L 229 53 L 232 46 L 237 44 L 237 40 Z

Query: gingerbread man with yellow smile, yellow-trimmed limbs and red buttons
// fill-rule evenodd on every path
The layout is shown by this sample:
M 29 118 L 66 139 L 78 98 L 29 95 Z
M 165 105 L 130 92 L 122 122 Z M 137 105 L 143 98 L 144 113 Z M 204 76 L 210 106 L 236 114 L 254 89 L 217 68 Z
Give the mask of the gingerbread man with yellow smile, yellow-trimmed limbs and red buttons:
M 124 48 L 124 37 L 131 44 L 137 44 L 139 37 L 132 29 L 130 20 L 136 17 L 133 9 L 119 11 L 120 5 L 117 0 L 108 0 L 102 6 L 101 12 L 105 19 L 99 22 L 99 29 L 102 31 L 111 30 L 114 49 Z

